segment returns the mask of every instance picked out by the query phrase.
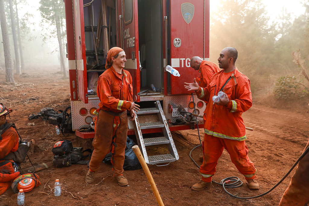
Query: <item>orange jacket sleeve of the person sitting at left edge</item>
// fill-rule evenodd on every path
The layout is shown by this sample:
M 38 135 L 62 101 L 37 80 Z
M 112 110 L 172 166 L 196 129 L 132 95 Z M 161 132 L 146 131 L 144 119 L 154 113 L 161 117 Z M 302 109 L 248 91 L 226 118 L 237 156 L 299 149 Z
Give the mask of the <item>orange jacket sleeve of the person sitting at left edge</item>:
M 19 137 L 14 128 L 9 128 L 2 135 L 0 141 L 0 159 L 4 158 L 10 152 L 15 152 L 18 149 Z

